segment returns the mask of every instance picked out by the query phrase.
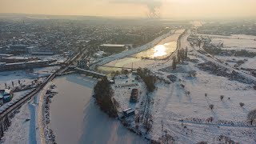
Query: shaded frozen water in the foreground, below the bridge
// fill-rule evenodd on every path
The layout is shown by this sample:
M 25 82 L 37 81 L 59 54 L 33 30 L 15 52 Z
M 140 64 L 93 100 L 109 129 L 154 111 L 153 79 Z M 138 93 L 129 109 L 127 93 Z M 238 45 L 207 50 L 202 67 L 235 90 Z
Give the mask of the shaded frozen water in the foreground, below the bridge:
M 54 80 L 58 94 L 50 104 L 50 125 L 57 143 L 146 143 L 95 106 L 91 97 L 94 83 L 79 74 Z

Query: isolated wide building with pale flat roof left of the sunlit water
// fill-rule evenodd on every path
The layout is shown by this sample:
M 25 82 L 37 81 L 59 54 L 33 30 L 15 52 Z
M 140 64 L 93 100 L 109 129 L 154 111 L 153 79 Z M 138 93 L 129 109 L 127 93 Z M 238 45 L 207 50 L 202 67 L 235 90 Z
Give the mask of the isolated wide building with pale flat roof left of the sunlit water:
M 114 53 L 120 53 L 123 50 L 126 50 L 126 45 L 102 44 L 101 46 L 99 46 L 99 49 L 107 53 L 114 54 Z

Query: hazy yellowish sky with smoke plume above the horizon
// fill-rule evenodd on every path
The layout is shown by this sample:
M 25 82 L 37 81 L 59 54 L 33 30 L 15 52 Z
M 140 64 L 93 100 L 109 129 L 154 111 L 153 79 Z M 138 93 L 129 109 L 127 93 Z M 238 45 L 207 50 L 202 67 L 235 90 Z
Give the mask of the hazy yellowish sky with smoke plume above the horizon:
M 114 17 L 256 17 L 256 0 L 0 0 L 0 13 Z

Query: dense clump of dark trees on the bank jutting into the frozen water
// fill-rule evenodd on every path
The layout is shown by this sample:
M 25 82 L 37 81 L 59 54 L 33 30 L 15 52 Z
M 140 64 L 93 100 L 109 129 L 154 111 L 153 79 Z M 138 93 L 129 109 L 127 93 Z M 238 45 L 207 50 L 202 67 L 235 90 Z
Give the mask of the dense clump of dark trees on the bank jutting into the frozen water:
M 118 104 L 114 101 L 113 95 L 114 91 L 107 78 L 102 78 L 102 81 L 98 81 L 94 86 L 94 96 L 98 106 L 110 117 L 115 118 L 118 116 Z

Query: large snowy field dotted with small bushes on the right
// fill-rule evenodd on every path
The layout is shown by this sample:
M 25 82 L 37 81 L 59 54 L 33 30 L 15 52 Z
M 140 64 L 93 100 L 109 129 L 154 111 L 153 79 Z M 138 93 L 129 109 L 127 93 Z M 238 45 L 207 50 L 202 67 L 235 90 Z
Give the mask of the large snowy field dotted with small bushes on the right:
M 249 123 L 246 122 L 246 115 L 254 110 L 256 104 L 256 92 L 252 86 L 208 74 L 198 70 L 191 62 L 182 68 L 183 73 L 174 74 L 181 81 L 167 87 L 158 85 L 153 96 L 152 137 L 156 139 L 162 135 L 163 123 L 164 129 L 182 143 L 201 142 L 206 139 L 213 143 L 214 138 L 222 134 L 236 142 L 254 143 L 255 128 L 247 127 Z M 188 77 L 186 72 L 190 70 L 197 70 L 196 78 Z M 190 94 L 186 93 L 188 91 Z M 221 95 L 224 95 L 222 101 Z M 245 106 L 239 106 L 239 102 L 245 103 Z M 210 104 L 214 105 L 213 110 L 210 110 Z M 213 122 L 206 121 L 210 117 L 214 118 Z M 187 128 L 182 128 L 182 125 Z

